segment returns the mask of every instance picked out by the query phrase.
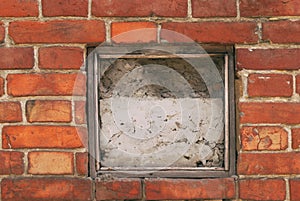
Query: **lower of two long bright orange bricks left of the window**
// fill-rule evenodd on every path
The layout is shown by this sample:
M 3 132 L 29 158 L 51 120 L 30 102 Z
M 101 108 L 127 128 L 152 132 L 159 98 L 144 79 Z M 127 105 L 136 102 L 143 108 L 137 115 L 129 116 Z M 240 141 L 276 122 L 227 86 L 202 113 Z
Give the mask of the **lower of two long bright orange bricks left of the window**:
M 87 132 L 70 126 L 4 126 L 2 146 L 8 148 L 83 148 Z

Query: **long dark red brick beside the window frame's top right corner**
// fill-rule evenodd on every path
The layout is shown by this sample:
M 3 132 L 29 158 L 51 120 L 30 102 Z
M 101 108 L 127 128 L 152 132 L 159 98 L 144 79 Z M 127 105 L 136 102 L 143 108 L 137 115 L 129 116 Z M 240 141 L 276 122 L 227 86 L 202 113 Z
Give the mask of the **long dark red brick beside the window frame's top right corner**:
M 297 70 L 300 49 L 237 49 L 238 69 Z

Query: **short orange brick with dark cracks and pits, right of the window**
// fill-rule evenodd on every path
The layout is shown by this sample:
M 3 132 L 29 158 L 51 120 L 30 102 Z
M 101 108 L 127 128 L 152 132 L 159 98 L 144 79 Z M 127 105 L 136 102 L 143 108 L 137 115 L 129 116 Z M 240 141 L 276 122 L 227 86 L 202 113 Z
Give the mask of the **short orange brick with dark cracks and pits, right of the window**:
M 246 126 L 241 129 L 243 150 L 284 150 L 288 134 L 281 127 Z

